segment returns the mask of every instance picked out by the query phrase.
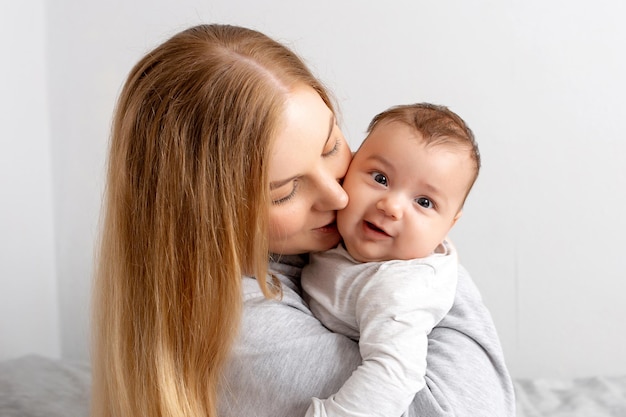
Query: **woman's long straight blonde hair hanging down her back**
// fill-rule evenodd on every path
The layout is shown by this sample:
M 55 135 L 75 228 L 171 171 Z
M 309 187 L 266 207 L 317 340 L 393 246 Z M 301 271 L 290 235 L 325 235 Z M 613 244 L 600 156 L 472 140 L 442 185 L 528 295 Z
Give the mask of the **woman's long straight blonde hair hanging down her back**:
M 139 61 L 114 115 L 94 284 L 94 417 L 217 415 L 241 276 L 266 296 L 268 155 L 302 61 L 202 25 Z M 271 326 L 268 323 L 268 326 Z

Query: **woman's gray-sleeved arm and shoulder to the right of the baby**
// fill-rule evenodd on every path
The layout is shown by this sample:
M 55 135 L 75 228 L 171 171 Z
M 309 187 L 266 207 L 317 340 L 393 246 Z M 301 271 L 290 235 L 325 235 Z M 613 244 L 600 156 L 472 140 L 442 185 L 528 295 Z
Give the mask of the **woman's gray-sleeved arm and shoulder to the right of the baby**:
M 491 314 L 459 266 L 454 305 L 428 336 L 426 384 L 408 416 L 515 416 L 513 385 Z

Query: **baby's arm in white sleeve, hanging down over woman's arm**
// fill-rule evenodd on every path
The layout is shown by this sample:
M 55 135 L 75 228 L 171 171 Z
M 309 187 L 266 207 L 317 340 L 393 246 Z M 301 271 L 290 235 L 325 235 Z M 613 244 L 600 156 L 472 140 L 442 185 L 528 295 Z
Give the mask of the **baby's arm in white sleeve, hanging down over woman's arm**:
M 362 364 L 339 391 L 313 399 L 307 416 L 402 415 L 424 385 L 427 335 L 452 306 L 456 256 L 390 261 L 358 285 Z

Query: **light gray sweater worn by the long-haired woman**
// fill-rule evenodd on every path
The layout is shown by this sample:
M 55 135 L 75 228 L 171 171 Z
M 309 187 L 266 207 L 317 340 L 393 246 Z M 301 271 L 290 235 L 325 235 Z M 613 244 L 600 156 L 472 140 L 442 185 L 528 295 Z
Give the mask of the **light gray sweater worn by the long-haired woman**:
M 357 342 L 311 313 L 299 284 L 304 260 L 272 262 L 281 300 L 244 277 L 244 315 L 222 384 L 222 417 L 300 417 L 312 397 L 335 393 L 360 365 Z M 513 417 L 513 385 L 487 308 L 459 267 L 454 305 L 428 336 L 426 384 L 406 416 Z

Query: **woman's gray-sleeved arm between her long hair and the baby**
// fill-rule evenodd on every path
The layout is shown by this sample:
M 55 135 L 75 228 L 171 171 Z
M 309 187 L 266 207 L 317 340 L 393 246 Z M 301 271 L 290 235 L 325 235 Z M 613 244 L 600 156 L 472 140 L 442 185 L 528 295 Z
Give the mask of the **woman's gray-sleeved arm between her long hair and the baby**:
M 220 416 L 303 417 L 312 397 L 333 394 L 361 363 L 358 345 L 311 314 L 291 281 L 281 301 L 244 278 L 244 316 L 220 397 Z

